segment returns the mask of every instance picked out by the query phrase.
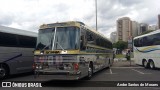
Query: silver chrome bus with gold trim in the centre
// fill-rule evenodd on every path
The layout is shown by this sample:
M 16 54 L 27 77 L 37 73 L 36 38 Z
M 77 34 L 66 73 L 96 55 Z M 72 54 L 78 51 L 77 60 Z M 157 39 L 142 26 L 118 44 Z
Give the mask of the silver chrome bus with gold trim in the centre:
M 68 21 L 40 26 L 34 52 L 35 77 L 90 79 L 93 73 L 112 63 L 110 40 L 84 23 Z

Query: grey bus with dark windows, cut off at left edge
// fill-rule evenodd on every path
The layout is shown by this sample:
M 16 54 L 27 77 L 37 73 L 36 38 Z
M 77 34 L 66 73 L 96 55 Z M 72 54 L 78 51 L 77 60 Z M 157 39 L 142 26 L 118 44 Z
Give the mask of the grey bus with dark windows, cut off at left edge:
M 33 72 L 33 51 L 38 34 L 0 26 L 0 78 Z

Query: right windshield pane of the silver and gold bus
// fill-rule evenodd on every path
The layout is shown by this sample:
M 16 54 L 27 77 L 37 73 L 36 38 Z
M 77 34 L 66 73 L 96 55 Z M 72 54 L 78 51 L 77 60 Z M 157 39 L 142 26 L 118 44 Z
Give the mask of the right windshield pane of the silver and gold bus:
M 54 49 L 78 49 L 79 32 L 77 27 L 58 27 Z

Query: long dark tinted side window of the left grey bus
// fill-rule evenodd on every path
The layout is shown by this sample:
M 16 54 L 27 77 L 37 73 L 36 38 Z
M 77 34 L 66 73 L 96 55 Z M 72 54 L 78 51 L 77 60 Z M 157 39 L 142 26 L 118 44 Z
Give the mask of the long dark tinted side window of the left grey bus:
M 36 38 L 0 32 L 0 46 L 34 48 Z

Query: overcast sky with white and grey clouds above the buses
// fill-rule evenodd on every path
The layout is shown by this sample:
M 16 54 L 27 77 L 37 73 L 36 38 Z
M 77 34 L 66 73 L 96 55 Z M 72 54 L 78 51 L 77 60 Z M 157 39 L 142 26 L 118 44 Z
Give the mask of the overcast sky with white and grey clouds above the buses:
M 160 0 L 97 0 L 98 31 L 109 38 L 116 20 L 128 16 L 157 24 Z M 38 32 L 41 24 L 81 21 L 95 28 L 95 0 L 0 0 L 0 25 Z

